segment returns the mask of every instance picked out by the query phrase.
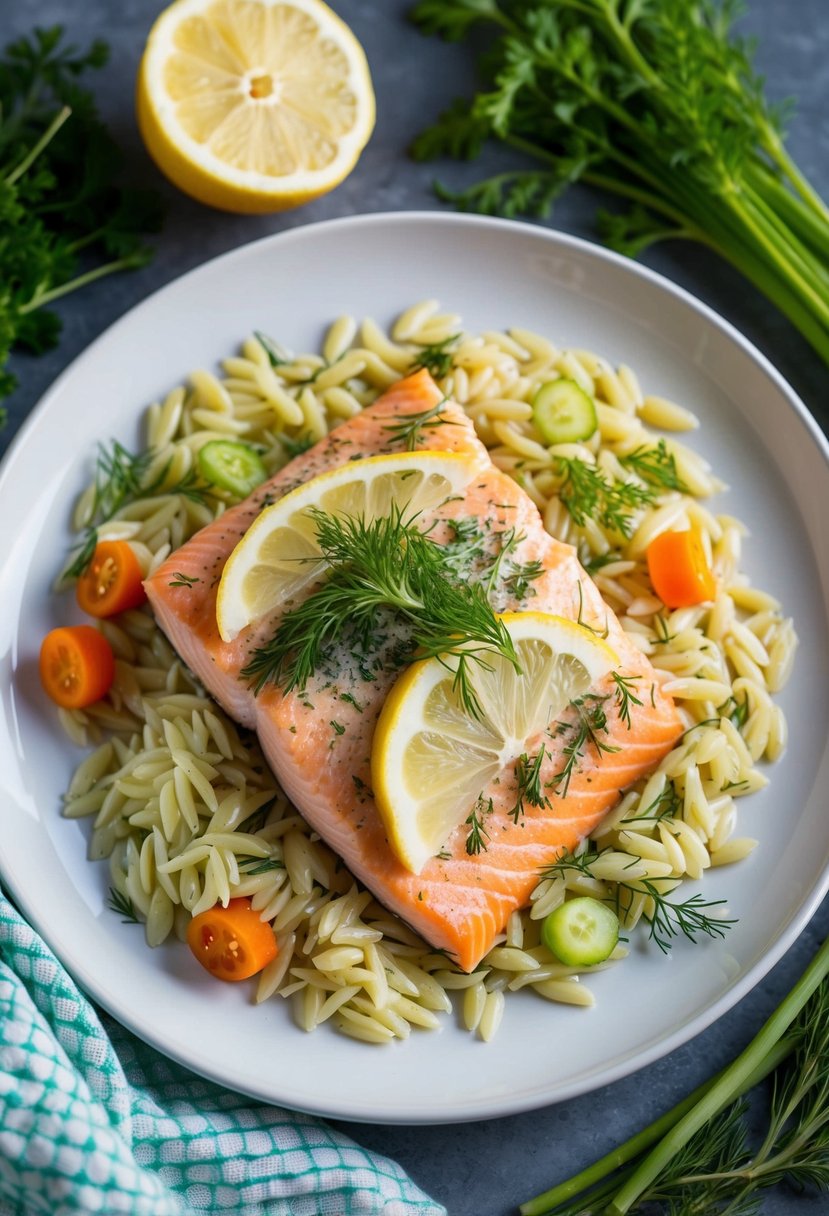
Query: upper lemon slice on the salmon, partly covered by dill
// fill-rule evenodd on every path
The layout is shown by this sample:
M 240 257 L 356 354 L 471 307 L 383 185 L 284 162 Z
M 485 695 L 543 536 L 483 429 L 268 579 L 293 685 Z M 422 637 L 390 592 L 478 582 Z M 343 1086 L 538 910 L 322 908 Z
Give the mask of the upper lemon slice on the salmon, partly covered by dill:
M 216 596 L 222 640 L 231 642 L 323 573 L 310 508 L 366 522 L 395 507 L 412 516 L 463 494 L 476 468 L 466 452 L 393 452 L 340 465 L 286 494 L 256 517 L 227 559 Z

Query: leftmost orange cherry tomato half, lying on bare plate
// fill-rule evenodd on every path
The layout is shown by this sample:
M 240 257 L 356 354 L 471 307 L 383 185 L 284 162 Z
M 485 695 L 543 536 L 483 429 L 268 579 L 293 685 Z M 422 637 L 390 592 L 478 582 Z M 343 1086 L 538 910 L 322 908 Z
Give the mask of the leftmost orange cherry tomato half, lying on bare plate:
M 115 679 L 115 658 L 91 625 L 53 629 L 40 647 L 40 682 L 63 709 L 83 709 L 100 700 Z

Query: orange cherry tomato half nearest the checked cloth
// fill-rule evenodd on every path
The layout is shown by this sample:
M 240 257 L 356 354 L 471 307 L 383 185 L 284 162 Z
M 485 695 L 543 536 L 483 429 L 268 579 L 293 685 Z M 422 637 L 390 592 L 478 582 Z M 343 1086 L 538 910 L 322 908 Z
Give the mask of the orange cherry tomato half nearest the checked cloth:
M 276 938 L 259 919 L 250 900 L 216 903 L 194 916 L 187 927 L 187 945 L 210 975 L 220 980 L 247 980 L 276 958 Z

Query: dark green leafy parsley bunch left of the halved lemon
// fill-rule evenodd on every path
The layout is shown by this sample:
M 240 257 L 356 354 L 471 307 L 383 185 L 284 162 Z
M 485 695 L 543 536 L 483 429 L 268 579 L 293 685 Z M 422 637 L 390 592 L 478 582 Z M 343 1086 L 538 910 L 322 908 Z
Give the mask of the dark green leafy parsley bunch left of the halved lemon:
M 142 233 L 160 224 L 158 198 L 115 185 L 120 152 L 78 84 L 107 55 L 98 40 L 66 45 L 53 27 L 0 57 L 0 400 L 16 387 L 12 349 L 57 342 L 46 305 L 151 257 Z

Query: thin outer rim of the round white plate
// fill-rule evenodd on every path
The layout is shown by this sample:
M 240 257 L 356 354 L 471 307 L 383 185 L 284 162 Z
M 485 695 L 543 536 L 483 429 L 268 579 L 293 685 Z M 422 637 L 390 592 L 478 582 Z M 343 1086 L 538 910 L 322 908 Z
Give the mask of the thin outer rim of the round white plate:
M 824 465 L 827 466 L 827 469 L 829 471 L 829 439 L 823 433 L 817 420 L 810 412 L 808 407 L 795 389 L 789 384 L 777 367 L 774 367 L 771 360 L 749 338 L 746 338 L 745 334 L 743 334 L 731 321 L 711 308 L 711 305 L 700 300 L 687 288 L 672 282 L 659 271 L 652 270 L 650 268 L 625 258 L 621 254 L 605 249 L 594 242 L 571 236 L 570 233 L 559 232 L 554 229 L 535 226 L 518 220 L 503 220 L 494 216 L 442 213 L 436 210 L 404 210 L 361 213 L 356 215 L 338 216 L 334 219 L 316 220 L 309 224 L 299 224 L 292 229 L 280 232 L 272 232 L 254 241 L 243 242 L 242 244 L 235 246 L 233 248 L 227 249 L 207 261 L 192 266 L 182 275 L 171 278 L 169 282 L 139 300 L 122 316 L 108 325 L 100 334 L 97 334 L 96 338 L 83 351 L 80 351 L 66 368 L 63 368 L 46 392 L 40 396 L 38 402 L 32 407 L 27 418 L 11 440 L 9 449 L 4 454 L 2 461 L 0 462 L 0 499 L 6 491 L 7 480 L 13 475 L 13 467 L 18 452 L 22 451 L 28 444 L 30 433 L 39 424 L 41 415 L 50 407 L 52 399 L 63 392 L 66 383 L 71 381 L 72 377 L 77 376 L 79 371 L 83 372 L 86 365 L 95 360 L 100 344 L 105 343 L 115 331 L 118 331 L 119 327 L 134 323 L 136 314 L 141 314 L 142 311 L 150 313 L 153 304 L 160 295 L 163 295 L 163 293 L 177 289 L 182 283 L 193 277 L 198 277 L 203 272 L 214 271 L 221 263 L 232 261 L 232 259 L 239 257 L 244 252 L 250 252 L 252 249 L 265 246 L 271 247 L 277 243 L 280 246 L 287 246 L 292 241 L 305 241 L 309 238 L 309 235 L 312 237 L 314 232 L 318 230 L 354 230 L 377 225 L 394 227 L 399 225 L 406 226 L 410 224 L 424 223 L 427 225 L 449 225 L 464 229 L 497 229 L 498 231 L 520 233 L 523 237 L 538 241 L 542 244 L 546 243 L 558 247 L 559 249 L 571 249 L 579 255 L 596 259 L 599 264 L 604 263 L 616 266 L 624 272 L 632 275 L 635 278 L 639 278 L 649 283 L 656 291 L 666 292 L 669 295 L 672 295 L 679 303 L 689 308 L 692 313 L 698 314 L 707 323 L 712 325 L 716 330 L 724 334 L 724 337 L 732 344 L 738 347 L 743 354 L 746 355 L 748 359 L 772 382 L 777 390 L 785 398 L 789 407 L 793 410 L 800 423 L 805 427 L 810 441 L 816 446 Z M 236 1092 L 246 1093 L 249 1097 L 267 1103 L 273 1103 L 275 1100 L 289 1100 L 284 1098 L 275 1099 L 272 1092 L 270 1092 L 266 1086 L 256 1088 L 254 1086 L 246 1085 L 244 1087 L 238 1088 L 237 1085 L 229 1081 L 227 1075 L 222 1073 L 220 1068 L 212 1069 L 202 1058 L 196 1058 L 198 1055 L 196 1051 L 187 1051 L 186 1047 L 185 1049 L 181 1049 L 180 1045 L 175 1049 L 165 1046 L 163 1041 L 148 1032 L 147 1026 L 141 1023 L 137 1017 L 131 1017 L 131 1009 L 126 1002 L 119 1003 L 118 995 L 111 995 L 106 990 L 106 986 L 98 983 L 95 975 L 90 974 L 81 962 L 73 958 L 72 963 L 68 964 L 64 961 L 62 953 L 52 945 L 50 927 L 44 927 L 39 922 L 36 907 L 30 903 L 24 893 L 22 894 L 18 890 L 13 874 L 11 874 L 6 868 L 2 854 L 0 854 L 0 878 L 2 879 L 6 891 L 13 896 L 32 927 L 40 934 L 44 941 L 46 941 L 50 950 L 52 950 L 62 966 L 66 967 L 67 972 L 77 979 L 79 985 L 102 1008 L 105 1008 L 123 1026 L 135 1034 L 142 1042 L 148 1043 L 168 1058 L 190 1068 L 199 1076 L 207 1077 L 224 1087 L 235 1088 Z M 776 963 L 778 963 L 784 953 L 791 947 L 816 914 L 828 891 L 829 861 L 824 863 L 820 880 L 816 883 L 808 895 L 802 899 L 796 912 L 790 917 L 785 927 L 779 930 L 772 946 L 757 957 L 750 966 L 748 966 L 745 974 L 740 976 L 735 984 L 729 986 L 716 1001 L 700 1013 L 681 1023 L 676 1030 L 665 1035 L 658 1042 L 650 1043 L 641 1051 L 628 1053 L 615 1064 L 602 1069 L 598 1075 L 590 1073 L 581 1079 L 574 1080 L 569 1085 L 560 1087 L 553 1094 L 546 1094 L 542 1097 L 538 1097 L 537 1094 L 524 1094 L 513 1099 L 502 1096 L 501 1100 L 496 1100 L 494 1097 L 490 1097 L 484 1100 L 484 1104 L 480 1108 L 474 1105 L 473 1096 L 473 1098 L 467 1099 L 462 1110 L 461 1108 L 450 1108 L 445 1115 L 439 1118 L 436 1118 L 434 1113 L 423 1114 L 410 1109 L 400 1115 L 391 1116 L 384 1114 L 378 1119 L 377 1114 L 372 1114 L 371 1110 L 362 1109 L 355 1113 L 354 1109 L 343 1109 L 342 1104 L 337 1103 L 331 1103 L 325 1108 L 315 1105 L 314 1110 L 326 1118 L 346 1121 L 365 1121 L 366 1119 L 373 1119 L 373 1121 L 383 1124 L 412 1125 L 476 1121 L 538 1109 L 540 1107 L 564 1102 L 569 1098 L 590 1093 L 600 1086 L 613 1083 L 621 1077 L 647 1068 L 649 1064 L 653 1064 L 655 1060 L 661 1059 L 672 1051 L 677 1049 L 679 1046 L 689 1042 L 697 1035 L 701 1034 L 705 1029 L 717 1021 L 731 1008 L 733 1008 L 748 992 L 750 992 L 766 978 Z M 297 1107 L 295 1109 L 306 1108 Z

